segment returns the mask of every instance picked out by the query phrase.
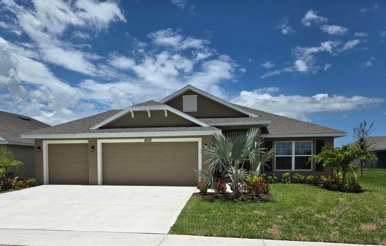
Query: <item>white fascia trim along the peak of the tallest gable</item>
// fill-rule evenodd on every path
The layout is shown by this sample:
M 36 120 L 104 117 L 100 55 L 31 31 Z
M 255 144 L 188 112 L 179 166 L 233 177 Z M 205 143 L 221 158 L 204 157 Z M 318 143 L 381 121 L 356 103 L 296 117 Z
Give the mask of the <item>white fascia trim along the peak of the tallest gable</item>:
M 196 92 L 197 94 L 200 94 L 200 95 L 205 96 L 205 97 L 207 97 L 207 98 L 209 98 L 209 99 L 212 99 L 213 101 L 216 101 L 217 103 L 220 103 L 220 104 L 222 104 L 222 105 L 227 106 L 228 108 L 231 108 L 231 109 L 234 109 L 234 110 L 236 110 L 236 111 L 238 111 L 238 112 L 241 112 L 241 113 L 243 113 L 243 114 L 246 114 L 246 115 L 248 115 L 249 117 L 259 117 L 258 115 L 255 115 L 255 114 L 253 114 L 253 113 L 251 113 L 251 112 L 248 112 L 248 111 L 246 111 L 246 110 L 240 108 L 238 105 L 231 104 L 231 103 L 229 103 L 228 101 L 221 99 L 220 97 L 213 96 L 212 94 L 209 94 L 209 93 L 207 93 L 207 92 L 205 92 L 205 91 L 203 91 L 203 90 L 200 90 L 200 89 L 198 89 L 197 87 L 194 87 L 194 86 L 192 86 L 192 85 L 187 85 L 187 86 L 181 88 L 180 90 L 176 91 L 175 93 L 173 93 L 173 94 L 171 94 L 171 95 L 169 95 L 169 96 L 163 98 L 162 100 L 160 100 L 160 103 L 163 103 L 163 104 L 164 104 L 164 103 L 167 103 L 167 102 L 170 101 L 171 99 L 176 98 L 177 96 L 179 96 L 179 95 L 185 93 L 185 92 L 188 91 L 188 90 L 194 91 L 194 92 Z

